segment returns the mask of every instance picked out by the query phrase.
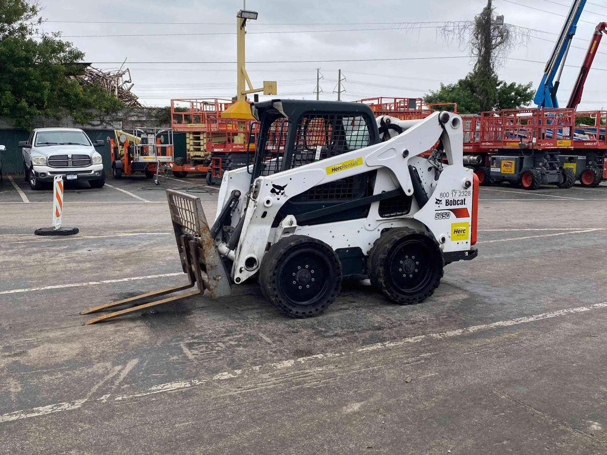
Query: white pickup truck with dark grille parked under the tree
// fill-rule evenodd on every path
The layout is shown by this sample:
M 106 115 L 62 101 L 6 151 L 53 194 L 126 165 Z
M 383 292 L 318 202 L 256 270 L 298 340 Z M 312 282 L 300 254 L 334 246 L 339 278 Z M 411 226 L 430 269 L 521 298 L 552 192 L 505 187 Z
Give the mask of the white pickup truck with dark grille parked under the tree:
M 25 181 L 38 190 L 55 175 L 63 175 L 63 180 L 86 180 L 93 188 L 101 188 L 106 173 L 95 147 L 103 146 L 103 140 L 93 144 L 81 129 L 37 128 L 27 141 L 19 142 Z

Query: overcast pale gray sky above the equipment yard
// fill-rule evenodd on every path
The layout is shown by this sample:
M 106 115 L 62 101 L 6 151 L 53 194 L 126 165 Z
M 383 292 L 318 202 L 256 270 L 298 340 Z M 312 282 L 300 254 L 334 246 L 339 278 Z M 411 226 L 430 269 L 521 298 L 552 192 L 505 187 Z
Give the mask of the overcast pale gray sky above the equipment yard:
M 39 1 L 42 16 L 49 20 L 44 30 L 62 32 L 94 66 L 116 68 L 116 62 L 126 58 L 134 92 L 148 106 L 166 106 L 171 98 L 230 97 L 236 91 L 235 15 L 242 0 Z M 279 95 L 291 98 L 315 96 L 317 67 L 324 76 L 321 99 L 336 99 L 338 69 L 346 78 L 345 100 L 422 96 L 441 81 L 456 81 L 469 72 L 468 50 L 444 39 L 444 28 L 452 21 L 473 19 L 485 4 L 486 0 L 246 0 L 247 9 L 259 12 L 259 19 L 247 27 L 247 69 L 254 83 L 277 80 Z M 531 29 L 523 30 L 527 42 L 517 45 L 500 67 L 502 79 L 537 86 L 570 4 L 494 0 L 508 24 Z M 561 106 L 569 98 L 594 27 L 604 20 L 607 0 L 589 2 L 569 53 L 570 66 L 561 78 Z M 137 36 L 158 34 L 163 36 Z M 606 71 L 604 44 L 580 109 L 607 106 Z

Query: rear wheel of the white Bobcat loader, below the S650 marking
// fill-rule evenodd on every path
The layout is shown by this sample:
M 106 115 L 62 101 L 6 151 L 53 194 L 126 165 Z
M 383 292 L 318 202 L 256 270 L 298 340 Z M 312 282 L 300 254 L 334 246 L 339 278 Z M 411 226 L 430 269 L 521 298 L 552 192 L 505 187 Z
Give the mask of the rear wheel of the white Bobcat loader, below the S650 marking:
M 407 248 L 407 246 L 418 248 L 418 251 L 419 248 L 422 251 L 425 249 L 427 253 L 427 268 L 425 272 L 421 271 L 424 274 L 421 283 L 410 291 L 400 288 L 394 282 L 395 269 L 392 269 L 392 261 L 398 260 L 399 248 Z M 412 260 L 414 259 L 412 257 Z M 408 257 L 407 260 L 409 260 Z M 415 264 L 419 266 L 417 262 Z M 398 266 L 397 264 L 395 268 Z M 367 262 L 371 284 L 389 300 L 400 305 L 421 303 L 430 297 L 438 288 L 441 278 L 443 278 L 443 268 L 443 253 L 435 238 L 428 232 L 410 229 L 409 227 L 396 227 L 384 232 L 373 243 Z M 399 269 L 399 272 L 402 272 L 402 270 Z

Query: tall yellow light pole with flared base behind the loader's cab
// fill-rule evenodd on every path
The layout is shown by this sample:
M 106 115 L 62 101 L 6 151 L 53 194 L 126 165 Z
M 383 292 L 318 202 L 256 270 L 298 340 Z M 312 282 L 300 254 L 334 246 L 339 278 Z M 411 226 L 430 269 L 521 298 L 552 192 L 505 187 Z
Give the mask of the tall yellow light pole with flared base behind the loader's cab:
M 222 118 L 233 118 L 236 120 L 254 120 L 251 114 L 251 106 L 246 101 L 248 93 L 263 92 L 264 95 L 276 95 L 276 81 L 263 81 L 261 89 L 254 89 L 251 79 L 246 72 L 245 67 L 245 35 L 246 21 L 256 20 L 257 12 L 249 10 L 240 10 L 236 13 L 236 67 L 237 67 L 237 87 L 236 103 L 222 112 Z M 248 87 L 248 90 L 246 90 Z M 239 132 L 244 132 L 245 123 L 239 122 Z M 240 135 L 239 135 L 240 136 Z M 244 138 L 236 138 L 240 142 Z

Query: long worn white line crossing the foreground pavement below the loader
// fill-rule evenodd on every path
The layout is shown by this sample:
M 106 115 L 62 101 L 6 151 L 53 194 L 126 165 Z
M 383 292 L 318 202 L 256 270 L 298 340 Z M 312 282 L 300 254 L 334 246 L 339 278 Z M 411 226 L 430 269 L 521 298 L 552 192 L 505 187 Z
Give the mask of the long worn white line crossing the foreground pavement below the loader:
M 287 359 L 280 362 L 266 363 L 264 365 L 250 366 L 244 369 L 233 369 L 231 371 L 223 371 L 219 374 L 215 374 L 211 380 L 205 377 L 181 379 L 172 382 L 161 383 L 147 389 L 141 389 L 139 391 L 131 391 L 126 394 L 112 394 L 106 393 L 100 397 L 84 397 L 78 400 L 71 400 L 67 402 L 55 403 L 52 405 L 38 406 L 30 409 L 20 409 L 19 411 L 13 411 L 12 413 L 5 413 L 0 415 L 0 423 L 2 422 L 13 422 L 15 420 L 29 419 L 30 417 L 46 416 L 47 414 L 61 413 L 64 411 L 73 411 L 79 409 L 88 403 L 107 403 L 114 402 L 120 403 L 124 400 L 135 400 L 140 397 L 149 396 L 152 394 L 160 393 L 172 393 L 176 390 L 189 389 L 195 386 L 203 386 L 206 384 L 216 385 L 216 381 L 232 381 L 241 376 L 263 376 L 266 377 L 269 374 L 280 374 L 280 372 L 286 372 L 289 374 L 292 369 L 302 365 L 310 365 L 324 359 L 333 359 L 335 357 L 363 357 L 363 356 L 377 356 L 378 351 L 384 351 L 391 348 L 398 348 L 399 346 L 406 346 L 413 343 L 419 343 L 422 341 L 432 340 L 444 340 L 453 337 L 459 337 L 461 335 L 473 334 L 476 332 L 489 331 L 491 329 L 499 329 L 503 327 L 512 327 L 521 324 L 527 324 L 530 322 L 537 322 L 541 320 L 551 319 L 555 317 L 569 316 L 572 314 L 595 311 L 607 307 L 607 302 L 595 303 L 590 306 L 578 306 L 577 308 L 565 308 L 557 311 L 545 312 L 540 314 L 534 314 L 531 316 L 523 316 L 509 320 L 497 321 L 487 324 L 468 326 L 461 329 L 450 330 L 446 332 L 436 332 L 429 334 L 417 335 L 415 337 L 403 338 L 400 340 L 392 340 L 387 342 L 375 343 L 373 345 L 362 346 L 361 348 L 354 349 L 349 352 L 321 352 L 313 356 L 298 357 L 296 359 Z M 371 354 L 368 354 L 368 353 Z M 422 356 L 431 356 L 432 354 L 421 354 Z M 311 368 L 309 366 L 308 368 Z M 288 376 L 283 375 L 283 378 Z M 230 389 L 229 393 L 238 393 L 239 389 Z

